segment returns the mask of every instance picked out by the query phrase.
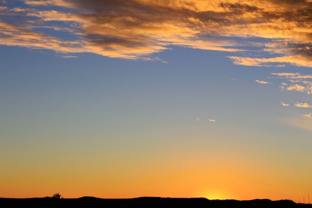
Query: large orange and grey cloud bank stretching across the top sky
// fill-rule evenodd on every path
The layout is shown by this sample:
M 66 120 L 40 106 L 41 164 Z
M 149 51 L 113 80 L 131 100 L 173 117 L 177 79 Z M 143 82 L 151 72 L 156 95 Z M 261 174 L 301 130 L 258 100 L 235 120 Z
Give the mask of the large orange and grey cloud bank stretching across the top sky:
M 312 66 L 311 1 L 21 2 L 0 7 L 2 45 L 146 60 L 157 60 L 152 54 L 177 45 L 235 52 L 229 56 L 234 64 Z

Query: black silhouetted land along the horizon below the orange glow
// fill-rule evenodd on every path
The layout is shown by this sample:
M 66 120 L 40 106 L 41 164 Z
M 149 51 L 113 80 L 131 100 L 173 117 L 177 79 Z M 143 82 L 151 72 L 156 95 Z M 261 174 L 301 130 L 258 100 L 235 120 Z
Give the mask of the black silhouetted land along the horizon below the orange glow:
M 296 204 L 290 200 L 207 200 L 205 198 L 99 199 L 7 199 L 0 198 L 0 208 L 312 208 L 308 204 Z

